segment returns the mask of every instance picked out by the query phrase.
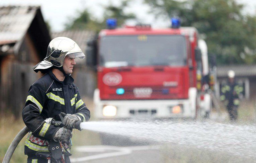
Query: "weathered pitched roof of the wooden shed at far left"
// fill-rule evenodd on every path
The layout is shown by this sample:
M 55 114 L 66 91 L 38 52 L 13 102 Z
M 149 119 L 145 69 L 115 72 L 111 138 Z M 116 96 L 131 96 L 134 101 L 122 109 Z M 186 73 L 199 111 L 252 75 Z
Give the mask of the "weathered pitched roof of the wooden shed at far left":
M 12 44 L 18 53 L 27 32 L 39 54 L 45 56 L 51 38 L 40 6 L 0 6 L 0 46 Z

